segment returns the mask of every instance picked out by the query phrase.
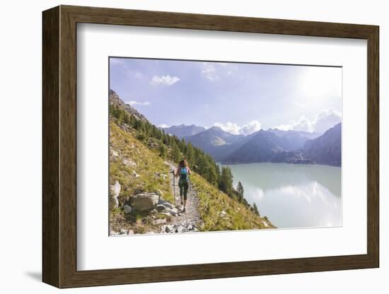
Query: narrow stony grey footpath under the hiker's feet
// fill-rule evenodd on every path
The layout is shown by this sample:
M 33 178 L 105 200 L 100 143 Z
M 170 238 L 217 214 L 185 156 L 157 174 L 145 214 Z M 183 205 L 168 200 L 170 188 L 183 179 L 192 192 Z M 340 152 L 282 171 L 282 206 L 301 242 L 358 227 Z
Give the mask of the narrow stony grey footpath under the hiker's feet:
M 167 163 L 170 170 L 174 170 L 176 167 L 172 163 Z M 187 191 L 187 205 L 185 212 L 182 211 L 183 206 L 180 202 L 180 188 L 178 187 L 178 178 L 174 178 L 172 172 L 169 172 L 170 188 L 173 195 L 175 195 L 175 203 L 173 208 L 170 208 L 169 213 L 172 216 L 172 221 L 168 225 L 161 226 L 161 233 L 185 233 L 185 232 L 197 232 L 199 226 L 202 225 L 202 221 L 199 215 L 199 199 L 194 187 L 190 187 Z M 192 183 L 190 183 L 192 186 Z M 162 205 L 163 202 L 161 203 Z M 165 203 L 166 205 L 167 203 Z M 169 206 L 167 204 L 166 206 Z

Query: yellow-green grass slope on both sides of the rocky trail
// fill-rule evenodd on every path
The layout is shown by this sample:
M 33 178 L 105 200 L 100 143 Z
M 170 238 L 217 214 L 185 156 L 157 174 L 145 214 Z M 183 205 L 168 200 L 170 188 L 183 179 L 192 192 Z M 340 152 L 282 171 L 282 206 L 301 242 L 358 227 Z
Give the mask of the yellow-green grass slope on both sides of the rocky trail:
M 136 136 L 137 130 L 130 127 L 122 129 L 115 120 L 110 120 L 110 184 L 118 181 L 121 185 L 119 207 L 129 202 L 132 195 L 140 192 L 158 192 L 163 195 L 161 198 L 173 202 L 168 177 L 161 176 L 168 174 L 168 165 L 159 156 L 157 149 L 146 146 Z M 203 222 L 200 230 L 274 228 L 267 218 L 257 216 L 197 173 L 193 172 L 191 180 L 192 189 L 199 196 L 199 213 Z M 130 229 L 134 233 L 146 233 L 158 230 L 158 226 L 153 225 L 155 218 L 168 218 L 168 223 L 171 220 L 163 214 L 151 218 L 149 213 L 136 211 L 126 218 L 121 208 L 110 206 L 111 229 L 115 231 Z

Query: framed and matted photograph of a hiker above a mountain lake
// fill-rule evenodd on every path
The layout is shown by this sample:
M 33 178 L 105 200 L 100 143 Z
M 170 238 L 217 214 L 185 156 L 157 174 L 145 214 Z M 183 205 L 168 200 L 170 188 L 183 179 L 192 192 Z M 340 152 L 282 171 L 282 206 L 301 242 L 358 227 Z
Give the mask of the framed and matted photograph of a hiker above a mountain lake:
M 45 283 L 379 266 L 378 26 L 42 20 Z

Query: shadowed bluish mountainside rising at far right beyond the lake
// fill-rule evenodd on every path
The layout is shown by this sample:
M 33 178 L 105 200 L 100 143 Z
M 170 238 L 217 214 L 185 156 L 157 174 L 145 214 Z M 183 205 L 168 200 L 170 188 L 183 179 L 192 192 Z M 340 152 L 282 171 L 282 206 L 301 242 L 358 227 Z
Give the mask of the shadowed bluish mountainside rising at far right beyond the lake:
M 322 136 L 306 141 L 304 156 L 322 165 L 342 165 L 342 124 L 327 130 Z

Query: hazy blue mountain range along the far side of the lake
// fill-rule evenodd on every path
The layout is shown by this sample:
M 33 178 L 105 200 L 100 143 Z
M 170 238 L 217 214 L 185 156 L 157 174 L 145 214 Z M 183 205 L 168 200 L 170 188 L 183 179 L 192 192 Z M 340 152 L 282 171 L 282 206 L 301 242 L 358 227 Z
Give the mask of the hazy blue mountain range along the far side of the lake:
M 230 134 L 220 127 L 205 129 L 194 125 L 164 130 L 169 134 L 179 134 L 180 138 L 201 148 L 220 163 L 341 165 L 341 123 L 321 135 L 306 131 L 261 129 L 243 136 Z

